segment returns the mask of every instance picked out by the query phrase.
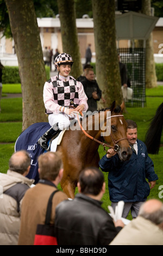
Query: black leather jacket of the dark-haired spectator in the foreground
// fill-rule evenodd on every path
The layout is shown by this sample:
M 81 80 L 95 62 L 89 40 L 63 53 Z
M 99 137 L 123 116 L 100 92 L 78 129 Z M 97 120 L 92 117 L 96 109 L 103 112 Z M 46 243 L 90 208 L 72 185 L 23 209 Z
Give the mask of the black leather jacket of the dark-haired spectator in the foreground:
M 115 228 L 102 202 L 77 194 L 61 202 L 55 212 L 59 245 L 109 245 L 121 227 Z

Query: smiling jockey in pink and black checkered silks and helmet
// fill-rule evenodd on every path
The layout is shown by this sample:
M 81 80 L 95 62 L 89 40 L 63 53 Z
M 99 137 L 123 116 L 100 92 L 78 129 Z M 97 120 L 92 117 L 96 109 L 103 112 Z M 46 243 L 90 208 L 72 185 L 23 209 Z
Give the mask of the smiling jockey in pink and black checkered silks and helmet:
M 70 125 L 70 119 L 88 108 L 82 83 L 70 76 L 72 64 L 69 54 L 59 54 L 54 60 L 58 75 L 51 77 L 43 87 L 43 101 L 52 126 L 38 141 L 44 149 L 48 148 L 47 142 L 57 130 L 66 129 Z

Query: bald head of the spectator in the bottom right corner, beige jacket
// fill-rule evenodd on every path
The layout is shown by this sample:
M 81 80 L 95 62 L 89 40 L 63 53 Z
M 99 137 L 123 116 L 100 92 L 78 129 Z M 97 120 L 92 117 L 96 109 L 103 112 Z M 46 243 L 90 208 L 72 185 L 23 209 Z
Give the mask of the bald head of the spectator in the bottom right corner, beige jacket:
M 139 216 L 152 221 L 156 225 L 163 223 L 163 204 L 160 200 L 151 199 L 143 203 L 140 210 Z

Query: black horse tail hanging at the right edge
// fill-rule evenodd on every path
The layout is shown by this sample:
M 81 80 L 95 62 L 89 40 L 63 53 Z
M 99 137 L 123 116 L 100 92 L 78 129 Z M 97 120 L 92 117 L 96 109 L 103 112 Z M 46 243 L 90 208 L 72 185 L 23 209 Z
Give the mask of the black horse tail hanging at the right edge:
M 159 153 L 161 135 L 163 126 L 163 102 L 156 109 L 154 117 L 151 119 L 149 128 L 145 136 L 145 144 L 149 154 L 156 155 Z

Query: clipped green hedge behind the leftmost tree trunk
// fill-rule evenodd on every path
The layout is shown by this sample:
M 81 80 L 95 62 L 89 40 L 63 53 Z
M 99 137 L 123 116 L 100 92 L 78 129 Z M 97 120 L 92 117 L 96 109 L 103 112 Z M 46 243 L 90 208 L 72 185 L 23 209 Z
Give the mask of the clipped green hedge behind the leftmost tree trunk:
M 50 68 L 45 66 L 47 80 L 50 78 Z M 2 83 L 21 83 L 18 66 L 5 66 L 2 71 Z

